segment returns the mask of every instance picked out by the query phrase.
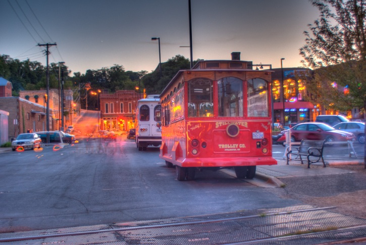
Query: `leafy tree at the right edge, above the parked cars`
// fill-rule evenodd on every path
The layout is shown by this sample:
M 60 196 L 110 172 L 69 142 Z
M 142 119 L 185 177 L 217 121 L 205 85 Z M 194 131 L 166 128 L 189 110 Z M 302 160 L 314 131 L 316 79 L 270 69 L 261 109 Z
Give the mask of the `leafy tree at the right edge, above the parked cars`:
M 321 14 L 320 20 L 308 25 L 311 35 L 304 32 L 305 45 L 300 48 L 304 65 L 316 69 L 314 79 L 308 82 L 308 92 L 318 94 L 312 99 L 326 103 L 323 104 L 326 107 L 336 110 L 359 107 L 365 114 L 366 0 L 310 2 Z M 333 82 L 337 87 L 332 86 Z M 346 90 L 339 90 L 340 87 Z M 330 101 L 327 96 L 332 94 Z

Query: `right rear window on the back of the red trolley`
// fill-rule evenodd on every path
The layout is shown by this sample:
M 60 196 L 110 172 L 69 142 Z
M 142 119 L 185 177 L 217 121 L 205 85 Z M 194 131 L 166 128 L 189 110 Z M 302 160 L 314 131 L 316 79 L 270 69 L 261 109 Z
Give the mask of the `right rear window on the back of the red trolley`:
M 248 117 L 268 117 L 268 83 L 262 78 L 248 80 Z

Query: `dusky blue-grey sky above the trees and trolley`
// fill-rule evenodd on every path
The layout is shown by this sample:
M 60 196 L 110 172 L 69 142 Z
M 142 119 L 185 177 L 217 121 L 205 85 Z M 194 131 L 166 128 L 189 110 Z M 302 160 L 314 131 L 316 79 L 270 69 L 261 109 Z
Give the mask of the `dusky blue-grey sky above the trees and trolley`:
M 319 18 L 307 0 L 191 0 L 193 60 L 301 67 L 304 31 Z M 151 72 L 176 55 L 190 59 L 188 0 L 0 0 L 0 55 L 85 74 L 123 66 Z M 180 47 L 188 46 L 188 47 Z

